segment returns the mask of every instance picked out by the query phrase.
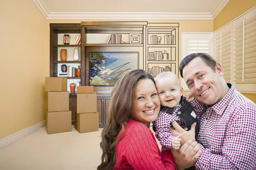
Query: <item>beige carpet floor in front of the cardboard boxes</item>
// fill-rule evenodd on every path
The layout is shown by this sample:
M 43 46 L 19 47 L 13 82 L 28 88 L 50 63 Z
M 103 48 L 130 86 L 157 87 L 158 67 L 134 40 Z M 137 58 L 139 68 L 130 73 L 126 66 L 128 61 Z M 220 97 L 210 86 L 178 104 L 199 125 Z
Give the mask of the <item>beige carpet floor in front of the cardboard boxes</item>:
M 72 126 L 71 132 L 48 135 L 43 127 L 1 149 L 0 170 L 96 170 L 101 132 L 80 134 Z

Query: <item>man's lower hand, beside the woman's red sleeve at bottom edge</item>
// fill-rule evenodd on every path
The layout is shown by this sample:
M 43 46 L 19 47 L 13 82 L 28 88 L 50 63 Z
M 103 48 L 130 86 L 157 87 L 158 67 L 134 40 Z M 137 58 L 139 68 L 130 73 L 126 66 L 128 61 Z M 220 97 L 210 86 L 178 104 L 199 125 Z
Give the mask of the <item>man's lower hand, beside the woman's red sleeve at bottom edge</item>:
M 192 167 L 202 153 L 200 147 L 201 144 L 198 144 L 195 139 L 190 139 L 180 149 L 172 149 L 172 156 L 177 170 Z

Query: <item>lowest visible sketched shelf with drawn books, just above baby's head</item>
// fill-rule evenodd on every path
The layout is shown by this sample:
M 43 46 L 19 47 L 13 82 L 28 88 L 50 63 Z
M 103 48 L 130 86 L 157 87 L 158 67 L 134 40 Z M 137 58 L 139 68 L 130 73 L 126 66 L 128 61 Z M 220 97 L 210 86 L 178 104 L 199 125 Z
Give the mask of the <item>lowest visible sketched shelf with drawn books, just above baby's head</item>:
M 171 71 L 176 74 L 175 67 L 175 63 L 148 63 L 148 73 L 153 77 L 164 71 Z

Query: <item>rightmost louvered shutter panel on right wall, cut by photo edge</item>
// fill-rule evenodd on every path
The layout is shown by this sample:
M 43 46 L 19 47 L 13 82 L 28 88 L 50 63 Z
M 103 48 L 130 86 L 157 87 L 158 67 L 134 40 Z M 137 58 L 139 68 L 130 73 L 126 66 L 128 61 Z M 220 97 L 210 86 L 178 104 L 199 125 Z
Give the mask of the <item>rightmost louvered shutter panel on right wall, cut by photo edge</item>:
M 256 14 L 234 26 L 235 83 L 256 83 Z

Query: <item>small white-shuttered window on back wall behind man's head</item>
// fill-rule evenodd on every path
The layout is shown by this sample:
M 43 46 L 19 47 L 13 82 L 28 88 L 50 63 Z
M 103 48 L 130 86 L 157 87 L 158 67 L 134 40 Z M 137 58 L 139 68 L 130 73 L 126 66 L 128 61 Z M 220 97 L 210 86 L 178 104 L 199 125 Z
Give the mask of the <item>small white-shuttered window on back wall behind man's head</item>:
M 182 33 L 182 59 L 192 53 L 207 53 L 212 55 L 212 33 Z M 182 79 L 184 91 L 189 91 Z

